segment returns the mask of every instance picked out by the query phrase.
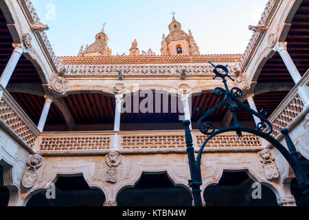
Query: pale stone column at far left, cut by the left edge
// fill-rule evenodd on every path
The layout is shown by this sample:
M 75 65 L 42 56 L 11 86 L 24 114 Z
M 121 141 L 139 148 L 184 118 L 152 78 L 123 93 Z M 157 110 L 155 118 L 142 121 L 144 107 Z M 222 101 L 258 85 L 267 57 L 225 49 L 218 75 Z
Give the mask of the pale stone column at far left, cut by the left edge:
M 0 78 L 0 84 L 4 88 L 8 85 L 8 82 L 10 81 L 14 69 L 17 63 L 19 62 L 19 58 L 21 58 L 21 55 L 25 52 L 25 47 L 23 47 L 22 43 L 13 43 L 13 47 L 15 47 L 15 49 L 13 50 L 10 60 L 8 61 L 8 64 L 5 66 L 5 69 L 3 70 L 3 73 Z

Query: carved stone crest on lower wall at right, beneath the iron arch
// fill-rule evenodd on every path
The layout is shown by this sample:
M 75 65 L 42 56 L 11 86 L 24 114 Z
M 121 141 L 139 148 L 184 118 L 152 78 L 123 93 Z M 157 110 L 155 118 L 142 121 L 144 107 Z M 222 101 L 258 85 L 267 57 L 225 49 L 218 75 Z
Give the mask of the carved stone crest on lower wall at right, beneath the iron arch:
M 271 180 L 279 177 L 279 172 L 275 164 L 275 158 L 271 155 L 271 151 L 269 151 L 269 149 L 264 149 L 259 152 L 259 155 L 262 157 L 261 162 L 264 167 L 264 175 L 266 179 Z

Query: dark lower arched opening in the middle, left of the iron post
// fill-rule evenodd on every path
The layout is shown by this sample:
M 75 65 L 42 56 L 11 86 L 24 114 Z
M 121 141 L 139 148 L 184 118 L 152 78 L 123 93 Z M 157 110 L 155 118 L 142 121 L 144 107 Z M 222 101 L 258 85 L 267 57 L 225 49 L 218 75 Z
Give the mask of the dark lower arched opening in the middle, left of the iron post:
M 143 173 L 134 188 L 126 188 L 117 197 L 118 206 L 192 206 L 192 195 L 182 186 L 174 186 L 167 173 Z

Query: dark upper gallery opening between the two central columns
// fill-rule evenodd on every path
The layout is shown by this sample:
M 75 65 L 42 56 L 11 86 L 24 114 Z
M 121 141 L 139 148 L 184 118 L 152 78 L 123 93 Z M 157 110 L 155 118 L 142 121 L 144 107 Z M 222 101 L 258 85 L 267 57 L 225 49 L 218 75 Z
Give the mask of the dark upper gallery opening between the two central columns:
M 122 112 L 120 131 L 183 130 L 183 103 L 176 93 L 144 89 L 126 94 Z

